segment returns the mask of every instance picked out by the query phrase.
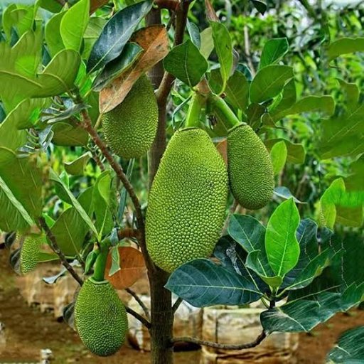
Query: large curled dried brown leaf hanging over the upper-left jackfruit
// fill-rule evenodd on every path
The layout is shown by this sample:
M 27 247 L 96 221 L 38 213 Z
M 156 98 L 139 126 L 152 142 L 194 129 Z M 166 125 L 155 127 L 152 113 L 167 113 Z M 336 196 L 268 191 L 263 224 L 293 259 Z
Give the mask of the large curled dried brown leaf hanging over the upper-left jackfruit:
M 139 59 L 100 92 L 100 112 L 109 112 L 120 104 L 138 78 L 168 54 L 168 33 L 161 25 L 149 26 L 134 33 L 131 41 L 144 49 Z

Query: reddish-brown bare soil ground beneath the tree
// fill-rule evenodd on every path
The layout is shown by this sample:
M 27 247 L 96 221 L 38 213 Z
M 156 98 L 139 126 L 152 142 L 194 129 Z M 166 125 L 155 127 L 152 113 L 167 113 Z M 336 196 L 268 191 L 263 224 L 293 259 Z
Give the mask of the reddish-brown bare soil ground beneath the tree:
M 124 346 L 112 358 L 97 358 L 90 354 L 71 328 L 57 322 L 51 313 L 42 314 L 36 307 L 29 307 L 18 293 L 15 275 L 9 268 L 9 255 L 0 250 L 0 363 L 37 363 L 41 349 L 53 351 L 55 364 L 105 363 L 147 364 L 149 353 Z M 297 361 L 299 364 L 325 363 L 328 350 L 333 347 L 343 331 L 364 325 L 364 311 L 339 314 L 319 326 L 312 334 L 301 334 Z M 4 343 L 4 337 L 6 343 Z M 176 353 L 176 364 L 198 364 L 198 351 Z M 161 363 L 162 364 L 162 363 Z

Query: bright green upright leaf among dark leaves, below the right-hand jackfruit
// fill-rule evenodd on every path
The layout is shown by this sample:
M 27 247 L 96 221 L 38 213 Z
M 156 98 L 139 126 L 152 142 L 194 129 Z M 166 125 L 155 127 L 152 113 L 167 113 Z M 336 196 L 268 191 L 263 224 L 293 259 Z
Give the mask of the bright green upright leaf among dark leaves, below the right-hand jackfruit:
M 281 203 L 269 218 L 265 233 L 265 250 L 273 272 L 284 277 L 299 259 L 299 210 L 293 198 Z

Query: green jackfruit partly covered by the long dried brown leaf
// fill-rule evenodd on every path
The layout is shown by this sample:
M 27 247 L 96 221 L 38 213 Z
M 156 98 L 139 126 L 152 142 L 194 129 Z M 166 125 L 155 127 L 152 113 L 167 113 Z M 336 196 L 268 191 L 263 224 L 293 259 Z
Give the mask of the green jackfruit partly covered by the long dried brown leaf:
M 158 127 L 153 86 L 144 75 L 124 101 L 102 117 L 107 144 L 125 159 L 140 158 L 150 149 Z

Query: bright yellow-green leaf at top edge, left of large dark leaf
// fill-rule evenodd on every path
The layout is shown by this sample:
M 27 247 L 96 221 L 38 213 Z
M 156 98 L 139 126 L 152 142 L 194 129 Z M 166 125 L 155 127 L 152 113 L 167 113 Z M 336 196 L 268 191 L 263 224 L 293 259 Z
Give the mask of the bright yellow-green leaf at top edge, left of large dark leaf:
M 90 18 L 90 0 L 80 0 L 66 11 L 60 21 L 60 36 L 65 48 L 79 51 Z

